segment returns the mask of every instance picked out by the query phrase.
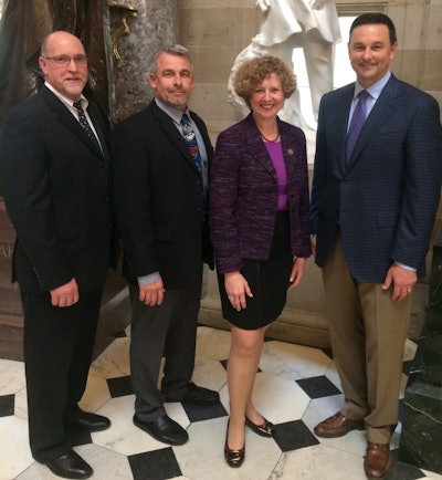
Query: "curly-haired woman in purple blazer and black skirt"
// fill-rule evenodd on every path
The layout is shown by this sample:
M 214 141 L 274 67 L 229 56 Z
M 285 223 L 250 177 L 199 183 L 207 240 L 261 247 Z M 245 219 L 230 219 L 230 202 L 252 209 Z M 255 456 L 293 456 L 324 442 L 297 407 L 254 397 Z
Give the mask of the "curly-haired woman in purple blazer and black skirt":
M 264 437 L 273 425 L 252 390 L 266 326 L 282 312 L 311 255 L 304 133 L 277 117 L 295 91 L 290 67 L 274 56 L 243 63 L 234 79 L 250 115 L 218 138 L 210 182 L 210 225 L 222 314 L 231 323 L 230 419 L 224 455 L 244 460 L 244 425 Z

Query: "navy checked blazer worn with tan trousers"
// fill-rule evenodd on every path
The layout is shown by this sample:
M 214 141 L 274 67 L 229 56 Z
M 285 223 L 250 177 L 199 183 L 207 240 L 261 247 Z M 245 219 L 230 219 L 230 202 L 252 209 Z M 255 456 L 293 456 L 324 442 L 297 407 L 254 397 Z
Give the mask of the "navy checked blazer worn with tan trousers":
M 356 280 L 382 282 L 393 261 L 421 278 L 441 188 L 438 102 L 391 75 L 346 163 L 354 88 L 324 95 L 319 106 L 311 201 L 316 263 L 326 263 L 340 226 Z

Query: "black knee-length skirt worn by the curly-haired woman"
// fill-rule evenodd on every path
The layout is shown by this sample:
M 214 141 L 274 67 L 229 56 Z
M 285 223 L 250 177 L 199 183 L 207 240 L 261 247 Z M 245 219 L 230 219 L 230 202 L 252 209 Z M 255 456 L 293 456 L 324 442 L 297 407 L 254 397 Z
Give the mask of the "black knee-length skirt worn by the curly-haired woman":
M 290 247 L 288 213 L 278 212 L 269 260 L 243 259 L 242 275 L 249 282 L 253 298 L 245 298 L 246 307 L 233 309 L 224 286 L 224 275 L 218 275 L 222 316 L 243 330 L 256 330 L 276 320 L 285 306 L 293 254 Z

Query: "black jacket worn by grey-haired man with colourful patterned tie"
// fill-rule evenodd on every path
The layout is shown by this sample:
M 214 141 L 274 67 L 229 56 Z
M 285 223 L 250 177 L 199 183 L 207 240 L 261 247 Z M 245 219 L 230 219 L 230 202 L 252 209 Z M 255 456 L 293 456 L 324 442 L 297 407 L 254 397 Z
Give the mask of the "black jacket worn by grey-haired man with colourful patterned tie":
M 212 157 L 207 127 L 191 113 Z M 119 123 L 110 137 L 115 211 L 124 248 L 124 274 L 159 272 L 166 289 L 182 289 L 213 267 L 201 208 L 202 178 L 171 118 L 155 101 Z

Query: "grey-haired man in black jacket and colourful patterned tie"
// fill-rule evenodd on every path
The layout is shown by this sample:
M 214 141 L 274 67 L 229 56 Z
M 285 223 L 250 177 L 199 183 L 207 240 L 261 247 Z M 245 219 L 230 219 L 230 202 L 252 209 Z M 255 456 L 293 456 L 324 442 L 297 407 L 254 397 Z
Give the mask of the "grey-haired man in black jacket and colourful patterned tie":
M 188 51 L 161 49 L 149 82 L 150 105 L 112 135 L 115 210 L 131 292 L 130 374 L 134 422 L 159 441 L 181 445 L 187 431 L 164 401 L 214 405 L 217 392 L 191 383 L 202 262 L 213 265 L 206 205 L 212 146 L 202 119 L 187 106 L 193 87 Z M 187 114 L 197 139 L 183 137 Z M 161 392 L 158 375 L 166 358 Z

